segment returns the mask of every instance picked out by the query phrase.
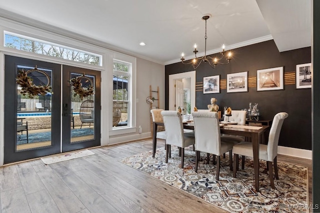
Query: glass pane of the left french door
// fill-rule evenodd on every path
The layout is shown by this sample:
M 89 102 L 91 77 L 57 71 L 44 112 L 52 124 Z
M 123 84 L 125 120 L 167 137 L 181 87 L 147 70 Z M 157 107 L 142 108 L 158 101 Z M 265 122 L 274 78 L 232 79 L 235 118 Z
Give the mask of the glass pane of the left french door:
M 52 70 L 17 65 L 16 150 L 51 146 Z

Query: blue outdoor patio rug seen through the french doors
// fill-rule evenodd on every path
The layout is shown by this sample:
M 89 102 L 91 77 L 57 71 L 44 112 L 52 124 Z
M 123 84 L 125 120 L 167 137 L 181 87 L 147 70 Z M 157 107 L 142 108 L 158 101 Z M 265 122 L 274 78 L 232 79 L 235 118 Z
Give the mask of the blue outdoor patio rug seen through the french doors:
M 91 128 L 71 129 L 71 137 L 82 137 L 86 135 L 93 135 L 94 130 Z M 42 141 L 51 141 L 51 132 L 39 132 L 28 134 L 28 143 L 36 143 Z M 16 145 L 26 144 L 26 134 L 23 132 L 20 140 L 16 140 Z

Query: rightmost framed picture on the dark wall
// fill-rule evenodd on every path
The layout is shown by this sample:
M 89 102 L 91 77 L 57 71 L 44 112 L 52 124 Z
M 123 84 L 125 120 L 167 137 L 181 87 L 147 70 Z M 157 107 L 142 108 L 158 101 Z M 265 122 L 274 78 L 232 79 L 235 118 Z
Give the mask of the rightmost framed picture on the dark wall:
M 311 63 L 296 65 L 295 87 L 311 88 Z

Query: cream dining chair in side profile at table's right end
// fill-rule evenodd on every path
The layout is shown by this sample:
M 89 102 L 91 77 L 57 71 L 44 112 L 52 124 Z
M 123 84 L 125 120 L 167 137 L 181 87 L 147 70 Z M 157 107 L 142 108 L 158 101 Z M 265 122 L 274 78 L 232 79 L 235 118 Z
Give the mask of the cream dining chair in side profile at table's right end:
M 269 139 L 267 145 L 260 144 L 259 145 L 259 159 L 264 160 L 267 162 L 268 166 L 268 172 L 269 172 L 269 178 L 270 178 L 270 184 L 271 188 L 274 189 L 274 183 L 273 183 L 273 174 L 272 174 L 272 161 L 274 166 L 274 176 L 276 180 L 279 179 L 278 176 L 278 169 L 276 164 L 276 156 L 278 151 L 278 142 L 279 142 L 279 136 L 281 127 L 283 124 L 283 121 L 285 118 L 288 117 L 288 114 L 286 112 L 279 112 L 273 117 L 272 125 L 269 132 Z M 233 177 L 236 177 L 236 170 L 237 168 L 237 161 L 238 161 L 238 155 L 242 156 L 248 156 L 253 157 L 253 151 L 252 151 L 252 143 L 251 142 L 241 142 L 233 146 L 232 152 L 234 153 L 234 162 L 233 162 Z M 242 158 L 242 169 L 244 167 L 244 158 Z

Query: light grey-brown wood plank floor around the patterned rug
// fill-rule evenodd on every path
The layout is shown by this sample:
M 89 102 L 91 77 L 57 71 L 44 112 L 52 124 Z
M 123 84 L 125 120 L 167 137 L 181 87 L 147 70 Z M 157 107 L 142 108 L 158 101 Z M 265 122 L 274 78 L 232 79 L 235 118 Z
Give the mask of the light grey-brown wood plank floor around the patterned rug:
M 157 140 L 157 147 L 164 146 Z M 118 162 L 150 151 L 152 140 L 90 149 L 95 155 L 44 165 L 40 159 L 0 168 L 0 213 L 224 213 Z M 309 169 L 311 160 L 278 156 Z M 311 201 L 311 200 L 310 200 Z

